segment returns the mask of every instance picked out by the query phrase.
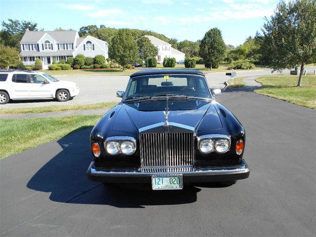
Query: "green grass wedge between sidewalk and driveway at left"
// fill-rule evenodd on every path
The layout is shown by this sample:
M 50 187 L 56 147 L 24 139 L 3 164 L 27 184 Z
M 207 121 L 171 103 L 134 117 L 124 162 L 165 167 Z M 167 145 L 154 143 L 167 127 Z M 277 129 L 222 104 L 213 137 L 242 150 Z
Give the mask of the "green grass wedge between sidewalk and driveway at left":
M 94 126 L 101 116 L 0 119 L 0 158 Z

